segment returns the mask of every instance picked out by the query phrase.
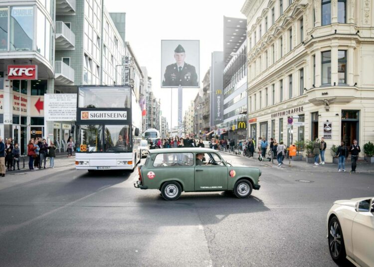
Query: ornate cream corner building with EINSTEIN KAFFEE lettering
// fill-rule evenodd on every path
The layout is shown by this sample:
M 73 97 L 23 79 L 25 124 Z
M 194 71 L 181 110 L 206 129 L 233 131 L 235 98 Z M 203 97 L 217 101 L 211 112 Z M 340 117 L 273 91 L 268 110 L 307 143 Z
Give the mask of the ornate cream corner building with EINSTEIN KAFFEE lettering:
M 288 145 L 325 137 L 327 150 L 373 141 L 373 8 L 372 0 L 245 1 L 250 137 Z

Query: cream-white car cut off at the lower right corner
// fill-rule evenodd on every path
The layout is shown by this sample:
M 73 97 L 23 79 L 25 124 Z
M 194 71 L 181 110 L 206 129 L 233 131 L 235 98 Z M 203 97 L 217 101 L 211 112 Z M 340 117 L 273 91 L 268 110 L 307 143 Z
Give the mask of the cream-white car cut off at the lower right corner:
M 374 266 L 374 197 L 334 202 L 327 215 L 330 255 L 355 266 Z

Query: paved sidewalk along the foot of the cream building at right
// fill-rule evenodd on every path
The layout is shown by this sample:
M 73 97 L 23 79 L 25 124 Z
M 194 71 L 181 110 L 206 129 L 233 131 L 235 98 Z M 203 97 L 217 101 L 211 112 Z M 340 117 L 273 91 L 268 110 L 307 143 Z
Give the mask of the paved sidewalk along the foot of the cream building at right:
M 234 155 L 234 156 L 237 156 L 237 157 L 241 157 L 243 159 L 247 159 L 248 161 L 254 161 L 254 162 L 258 162 L 260 163 L 260 161 L 258 160 L 258 153 L 254 153 L 254 156 L 251 157 L 251 158 L 248 158 L 248 157 L 245 157 L 243 155 L 236 155 L 236 154 L 233 154 L 233 153 L 228 153 L 228 152 L 225 152 L 225 151 L 220 151 L 222 153 L 226 153 L 226 154 L 229 154 L 229 155 Z M 313 163 L 307 163 L 305 158 L 303 158 L 303 160 L 301 161 L 293 161 L 291 160 L 291 164 L 289 164 L 289 159 L 288 158 L 285 158 L 283 160 L 283 165 L 278 167 L 278 161 L 276 159 L 274 159 L 274 163 L 272 163 L 271 161 L 262 161 L 261 163 L 263 163 L 264 165 L 267 165 L 269 167 L 274 167 L 274 168 L 278 168 L 278 169 L 284 169 L 284 170 L 297 170 L 297 171 L 320 171 L 320 172 L 338 172 L 338 164 L 334 164 L 334 163 L 325 163 L 324 165 L 320 164 L 320 165 L 314 165 Z M 349 162 L 346 162 L 346 170 L 347 172 L 349 172 L 351 170 L 351 161 Z M 357 162 L 357 168 L 356 168 L 356 172 L 357 173 L 360 173 L 360 172 L 374 172 L 374 164 L 370 164 L 366 161 L 358 161 Z

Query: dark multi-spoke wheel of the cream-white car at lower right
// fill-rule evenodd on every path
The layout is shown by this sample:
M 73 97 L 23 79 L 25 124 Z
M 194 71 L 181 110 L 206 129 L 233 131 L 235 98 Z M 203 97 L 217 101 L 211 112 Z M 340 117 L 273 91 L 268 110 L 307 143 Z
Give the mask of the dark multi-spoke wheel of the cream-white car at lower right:
M 346 248 L 344 246 L 343 231 L 337 217 L 329 222 L 329 251 L 335 262 L 341 263 L 346 259 Z

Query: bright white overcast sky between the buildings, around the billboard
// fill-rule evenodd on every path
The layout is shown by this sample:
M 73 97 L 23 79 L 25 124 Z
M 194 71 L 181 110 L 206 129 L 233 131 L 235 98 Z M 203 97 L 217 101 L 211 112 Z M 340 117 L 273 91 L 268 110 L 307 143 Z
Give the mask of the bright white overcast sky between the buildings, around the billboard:
M 223 50 L 223 16 L 242 17 L 244 0 L 104 0 L 109 12 L 126 12 L 126 41 L 152 77 L 153 92 L 161 99 L 162 116 L 178 123 L 178 89 L 161 88 L 161 40 L 200 40 L 200 86 L 210 67 L 211 52 Z M 186 58 L 186 62 L 188 62 Z M 183 92 L 183 115 L 198 92 Z

